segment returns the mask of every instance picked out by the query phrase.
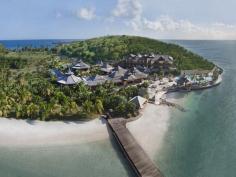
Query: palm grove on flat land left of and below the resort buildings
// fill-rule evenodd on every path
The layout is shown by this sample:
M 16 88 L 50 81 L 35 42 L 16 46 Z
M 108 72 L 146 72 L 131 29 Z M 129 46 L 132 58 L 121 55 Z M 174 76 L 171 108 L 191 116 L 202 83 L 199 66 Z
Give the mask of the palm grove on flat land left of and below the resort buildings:
M 15 62 L 21 67 L 13 66 Z M 83 83 L 59 86 L 49 70 L 67 62 L 49 50 L 8 51 L 1 47 L 0 117 L 77 120 L 97 117 L 110 109 L 115 116 L 136 114 L 135 105 L 128 100 L 145 85 L 118 89 L 107 83 L 95 90 Z

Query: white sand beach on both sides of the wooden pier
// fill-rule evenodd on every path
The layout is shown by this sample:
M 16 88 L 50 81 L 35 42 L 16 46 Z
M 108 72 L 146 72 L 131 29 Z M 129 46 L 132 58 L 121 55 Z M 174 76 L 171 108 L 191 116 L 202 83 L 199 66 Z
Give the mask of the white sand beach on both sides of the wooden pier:
M 143 149 L 154 157 L 169 125 L 167 106 L 147 104 L 138 120 L 127 124 Z M 0 118 L 0 146 L 50 146 L 95 142 L 109 138 L 105 121 L 43 122 Z

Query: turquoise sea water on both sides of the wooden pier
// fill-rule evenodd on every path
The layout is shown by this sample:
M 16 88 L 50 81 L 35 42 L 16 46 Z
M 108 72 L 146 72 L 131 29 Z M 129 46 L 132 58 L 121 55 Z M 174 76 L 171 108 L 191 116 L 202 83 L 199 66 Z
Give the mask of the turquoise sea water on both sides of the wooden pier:
M 224 69 L 218 87 L 178 93 L 186 112 L 172 109 L 154 157 L 165 177 L 236 176 L 236 41 L 169 41 Z M 157 137 L 158 138 L 158 137 Z M 133 177 L 114 142 L 31 148 L 0 147 L 0 177 Z

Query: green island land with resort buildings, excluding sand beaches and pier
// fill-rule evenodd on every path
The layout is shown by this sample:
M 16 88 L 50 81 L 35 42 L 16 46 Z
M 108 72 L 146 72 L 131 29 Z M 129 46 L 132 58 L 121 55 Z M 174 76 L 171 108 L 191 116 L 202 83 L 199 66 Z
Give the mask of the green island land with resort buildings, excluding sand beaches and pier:
M 0 117 L 89 120 L 135 117 L 161 93 L 209 88 L 222 69 L 185 48 L 105 36 L 53 48 L 0 46 Z M 158 98 L 155 98 L 155 97 Z

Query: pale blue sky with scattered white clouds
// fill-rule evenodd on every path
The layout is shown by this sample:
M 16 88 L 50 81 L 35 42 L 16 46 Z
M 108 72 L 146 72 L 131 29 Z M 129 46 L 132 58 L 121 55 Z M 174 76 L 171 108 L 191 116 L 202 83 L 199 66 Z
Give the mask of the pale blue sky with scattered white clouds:
M 0 40 L 235 40 L 235 7 L 235 0 L 0 0 Z

